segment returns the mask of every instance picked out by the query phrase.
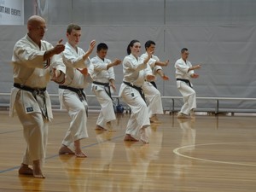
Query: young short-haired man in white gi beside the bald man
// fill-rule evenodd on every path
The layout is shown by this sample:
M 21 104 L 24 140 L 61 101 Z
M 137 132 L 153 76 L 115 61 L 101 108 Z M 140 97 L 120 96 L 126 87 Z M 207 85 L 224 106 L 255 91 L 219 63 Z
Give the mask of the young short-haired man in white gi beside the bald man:
M 81 27 L 75 24 L 67 26 L 67 43 L 62 59 L 67 67 L 66 81 L 59 86 L 61 108 L 67 108 L 71 122 L 66 136 L 62 141 L 59 154 L 75 154 L 86 157 L 80 147 L 80 140 L 88 137 L 86 111 L 88 104 L 84 88 L 91 82 L 89 55 L 96 42 L 90 42 L 90 48 L 84 50 L 78 47 L 81 38 Z

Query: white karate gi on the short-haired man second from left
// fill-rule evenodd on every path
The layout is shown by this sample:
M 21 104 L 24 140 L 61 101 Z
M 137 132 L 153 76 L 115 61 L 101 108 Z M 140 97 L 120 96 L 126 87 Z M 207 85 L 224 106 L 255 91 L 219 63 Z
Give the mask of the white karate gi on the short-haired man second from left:
M 63 85 L 84 89 L 91 82 L 90 59 L 83 60 L 84 50 L 78 47 L 78 52 L 68 42 L 65 44 L 65 50 L 62 53 L 62 59 L 67 67 L 66 80 Z M 88 67 L 88 75 L 84 76 L 77 68 Z M 85 93 L 84 93 L 85 94 Z M 62 144 L 74 150 L 74 141 L 88 137 L 87 133 L 87 102 L 80 101 L 76 92 L 67 89 L 59 89 L 61 108 L 66 108 L 71 122 L 64 137 Z

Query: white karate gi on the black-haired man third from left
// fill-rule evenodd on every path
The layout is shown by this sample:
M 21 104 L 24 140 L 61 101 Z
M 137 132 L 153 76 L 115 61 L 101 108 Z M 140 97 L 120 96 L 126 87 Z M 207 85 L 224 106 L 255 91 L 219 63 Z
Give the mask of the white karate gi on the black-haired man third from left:
M 108 84 L 110 79 L 115 79 L 113 67 L 110 67 L 107 70 L 108 64 L 111 63 L 110 60 L 105 58 L 104 61 L 102 61 L 100 57 L 95 56 L 91 59 L 91 63 L 94 67 L 94 73 L 92 75 L 93 81 Z M 91 89 L 102 107 L 96 125 L 100 125 L 107 129 L 106 123 L 116 119 L 113 110 L 113 101 L 105 90 L 108 90 L 108 87 L 101 84 L 92 84 Z

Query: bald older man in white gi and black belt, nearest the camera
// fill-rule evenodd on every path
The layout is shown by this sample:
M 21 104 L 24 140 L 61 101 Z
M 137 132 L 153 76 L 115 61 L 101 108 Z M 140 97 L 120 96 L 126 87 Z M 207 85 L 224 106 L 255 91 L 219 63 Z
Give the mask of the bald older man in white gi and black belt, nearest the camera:
M 61 55 L 64 44 L 53 46 L 44 41 L 45 20 L 33 15 L 27 20 L 27 34 L 14 48 L 12 56 L 14 88 L 11 91 L 10 115 L 16 110 L 23 126 L 26 151 L 19 169 L 20 174 L 44 178 L 49 120 L 53 118 L 46 86 L 50 80 L 62 84 L 66 67 Z M 30 167 L 32 166 L 32 168 Z

